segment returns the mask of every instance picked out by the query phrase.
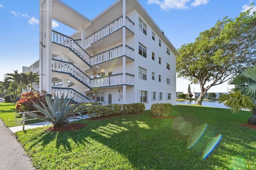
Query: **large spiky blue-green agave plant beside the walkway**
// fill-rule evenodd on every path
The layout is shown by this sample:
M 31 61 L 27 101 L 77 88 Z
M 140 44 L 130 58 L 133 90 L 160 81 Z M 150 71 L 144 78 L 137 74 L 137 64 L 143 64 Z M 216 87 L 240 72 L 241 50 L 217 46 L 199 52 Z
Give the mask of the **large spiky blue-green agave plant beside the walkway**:
M 83 116 L 81 113 L 75 113 L 74 109 L 78 107 L 80 104 L 74 104 L 71 105 L 72 99 L 68 99 L 67 96 L 64 98 L 62 95 L 61 98 L 59 98 L 58 95 L 53 95 L 54 101 L 49 96 L 45 96 L 46 105 L 40 101 L 43 107 L 41 107 L 38 103 L 34 103 L 34 107 L 38 109 L 44 116 L 36 115 L 35 113 L 32 113 L 30 111 L 27 111 L 25 114 L 43 121 L 52 122 L 54 127 L 60 127 L 60 126 L 66 126 L 68 123 L 70 123 L 70 119 L 83 119 Z M 75 117 L 74 115 L 80 115 L 80 117 Z

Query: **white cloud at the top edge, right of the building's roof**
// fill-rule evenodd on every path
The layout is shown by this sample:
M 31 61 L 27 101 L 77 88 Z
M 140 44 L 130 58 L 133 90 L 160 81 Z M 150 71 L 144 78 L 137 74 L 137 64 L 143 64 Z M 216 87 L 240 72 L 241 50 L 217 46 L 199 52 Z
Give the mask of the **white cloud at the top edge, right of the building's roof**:
M 188 9 L 191 0 L 148 0 L 148 4 L 157 4 L 162 10 L 168 11 L 170 9 Z M 191 6 L 200 6 L 207 4 L 209 0 L 195 0 Z

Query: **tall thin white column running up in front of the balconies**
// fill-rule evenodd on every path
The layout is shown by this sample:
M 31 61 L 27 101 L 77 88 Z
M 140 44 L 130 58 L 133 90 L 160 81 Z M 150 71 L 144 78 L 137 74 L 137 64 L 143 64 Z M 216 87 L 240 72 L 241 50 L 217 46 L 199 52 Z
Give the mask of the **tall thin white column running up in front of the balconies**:
M 126 0 L 123 0 L 123 84 L 126 84 Z M 123 103 L 126 104 L 126 85 L 123 85 Z

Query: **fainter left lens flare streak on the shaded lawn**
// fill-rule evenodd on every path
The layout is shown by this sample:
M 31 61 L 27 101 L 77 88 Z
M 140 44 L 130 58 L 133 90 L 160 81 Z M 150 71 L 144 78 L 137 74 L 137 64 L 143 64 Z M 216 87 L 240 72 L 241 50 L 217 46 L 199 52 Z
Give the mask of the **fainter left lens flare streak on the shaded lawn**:
M 207 124 L 204 124 L 193 129 L 192 134 L 188 138 L 188 149 L 191 149 L 198 142 L 198 140 L 203 136 L 207 126 L 208 126 Z

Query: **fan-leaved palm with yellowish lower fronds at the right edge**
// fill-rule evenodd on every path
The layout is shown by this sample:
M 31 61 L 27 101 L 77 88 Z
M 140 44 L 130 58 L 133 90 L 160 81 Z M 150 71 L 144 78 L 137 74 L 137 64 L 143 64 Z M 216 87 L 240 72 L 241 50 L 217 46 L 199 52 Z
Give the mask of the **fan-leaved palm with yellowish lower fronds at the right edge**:
M 256 65 L 248 68 L 228 82 L 235 85 L 230 95 L 222 95 L 219 103 L 225 102 L 224 105 L 232 108 L 233 113 L 240 109 L 249 109 L 252 116 L 248 119 L 248 124 L 256 125 Z

